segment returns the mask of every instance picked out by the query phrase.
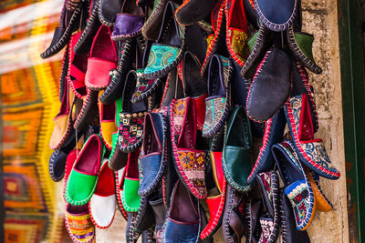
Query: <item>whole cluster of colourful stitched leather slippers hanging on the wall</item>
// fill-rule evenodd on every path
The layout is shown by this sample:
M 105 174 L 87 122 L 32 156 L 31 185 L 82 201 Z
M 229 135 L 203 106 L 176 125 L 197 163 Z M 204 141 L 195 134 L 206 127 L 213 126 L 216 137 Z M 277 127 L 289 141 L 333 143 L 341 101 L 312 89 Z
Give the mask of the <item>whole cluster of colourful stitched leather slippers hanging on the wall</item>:
M 66 46 L 49 172 L 70 237 L 118 206 L 127 242 L 309 242 L 332 210 L 319 177 L 339 178 L 312 42 L 300 0 L 65 0 L 41 56 Z

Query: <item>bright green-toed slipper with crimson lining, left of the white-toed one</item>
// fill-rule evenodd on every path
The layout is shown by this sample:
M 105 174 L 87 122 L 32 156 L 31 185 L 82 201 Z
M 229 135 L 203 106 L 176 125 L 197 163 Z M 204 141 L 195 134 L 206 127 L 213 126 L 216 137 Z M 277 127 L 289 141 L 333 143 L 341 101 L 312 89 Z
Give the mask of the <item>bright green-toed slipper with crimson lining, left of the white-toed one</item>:
M 65 198 L 69 204 L 84 205 L 89 202 L 98 182 L 100 163 L 104 153 L 105 147 L 101 137 L 96 134 L 89 137 L 68 177 Z

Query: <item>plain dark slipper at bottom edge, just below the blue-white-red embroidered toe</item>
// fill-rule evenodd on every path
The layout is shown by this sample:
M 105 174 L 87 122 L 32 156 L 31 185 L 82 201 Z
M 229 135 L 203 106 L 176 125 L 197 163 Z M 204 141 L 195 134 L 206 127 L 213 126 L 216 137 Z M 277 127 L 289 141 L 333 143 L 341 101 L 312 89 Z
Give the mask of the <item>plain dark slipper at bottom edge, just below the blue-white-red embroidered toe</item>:
M 284 243 L 308 243 L 310 238 L 307 230 L 297 230 L 296 219 L 294 218 L 293 208 L 290 200 L 284 192 L 284 189 L 280 189 L 280 228 L 282 229 L 282 238 Z

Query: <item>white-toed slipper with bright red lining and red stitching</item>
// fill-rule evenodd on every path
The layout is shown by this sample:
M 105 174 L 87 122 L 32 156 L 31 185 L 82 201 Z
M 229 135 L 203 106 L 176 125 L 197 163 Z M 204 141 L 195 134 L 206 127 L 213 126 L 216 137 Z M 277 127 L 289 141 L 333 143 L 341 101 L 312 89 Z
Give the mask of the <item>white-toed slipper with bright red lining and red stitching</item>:
M 109 228 L 114 219 L 116 206 L 114 173 L 108 167 L 108 159 L 104 159 L 97 187 L 89 202 L 89 212 L 94 225 L 98 228 Z

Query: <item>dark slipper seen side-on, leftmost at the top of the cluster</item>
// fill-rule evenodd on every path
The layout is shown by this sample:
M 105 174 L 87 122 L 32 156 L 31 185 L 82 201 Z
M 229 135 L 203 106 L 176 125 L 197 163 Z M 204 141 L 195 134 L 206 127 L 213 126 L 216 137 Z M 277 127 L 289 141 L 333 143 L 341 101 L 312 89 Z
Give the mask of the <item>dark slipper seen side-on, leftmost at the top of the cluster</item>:
M 83 3 L 80 2 L 74 11 L 69 11 L 65 5 L 60 15 L 59 26 L 56 27 L 53 34 L 51 44 L 48 46 L 47 50 L 40 55 L 44 59 L 56 55 L 63 47 L 68 45 L 72 33 L 78 29 Z

